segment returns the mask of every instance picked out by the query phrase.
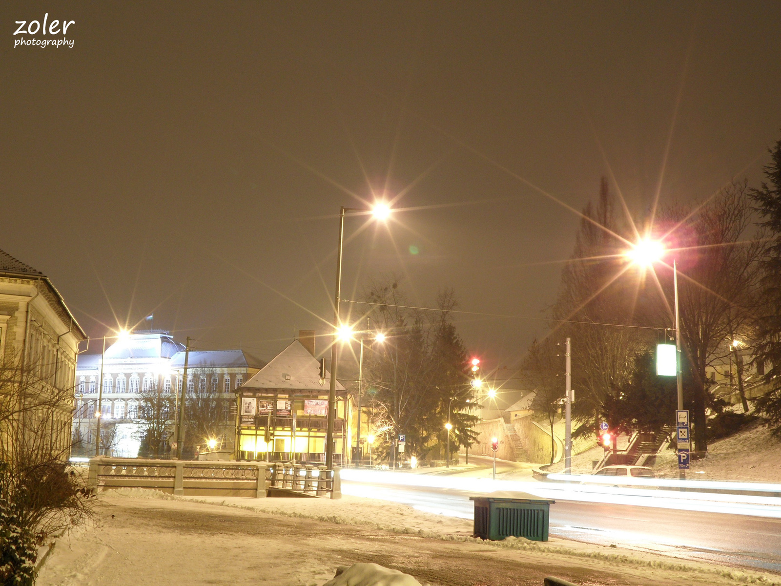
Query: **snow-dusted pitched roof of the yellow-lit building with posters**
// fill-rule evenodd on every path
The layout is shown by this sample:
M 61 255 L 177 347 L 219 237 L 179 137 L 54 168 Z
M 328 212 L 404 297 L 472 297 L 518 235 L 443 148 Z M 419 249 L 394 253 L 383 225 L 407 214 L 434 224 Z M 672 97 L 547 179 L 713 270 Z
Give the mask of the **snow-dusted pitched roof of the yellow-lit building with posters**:
M 282 352 L 271 359 L 271 362 L 255 373 L 241 388 L 268 388 L 295 391 L 327 391 L 330 385 L 330 373 L 326 371 L 324 384 L 320 384 L 320 363 L 301 345 L 294 340 Z M 344 391 L 344 386 L 337 381 L 337 391 Z

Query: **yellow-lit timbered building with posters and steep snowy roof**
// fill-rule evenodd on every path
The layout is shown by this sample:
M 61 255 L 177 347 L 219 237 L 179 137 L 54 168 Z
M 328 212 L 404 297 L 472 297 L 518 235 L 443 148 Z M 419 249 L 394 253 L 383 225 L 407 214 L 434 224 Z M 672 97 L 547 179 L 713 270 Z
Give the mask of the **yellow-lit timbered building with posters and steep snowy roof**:
M 330 373 L 320 377 L 311 342 L 310 350 L 293 341 L 237 389 L 236 459 L 325 462 Z M 350 416 L 348 392 L 337 381 L 334 464 L 348 457 Z

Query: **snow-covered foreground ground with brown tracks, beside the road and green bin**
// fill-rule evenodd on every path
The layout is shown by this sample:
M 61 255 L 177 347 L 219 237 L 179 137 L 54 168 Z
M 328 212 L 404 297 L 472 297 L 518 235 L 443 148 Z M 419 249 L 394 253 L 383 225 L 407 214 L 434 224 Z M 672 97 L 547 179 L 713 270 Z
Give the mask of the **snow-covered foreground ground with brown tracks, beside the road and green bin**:
M 542 584 L 551 574 L 593 585 L 781 584 L 770 574 L 576 541 L 480 541 L 469 521 L 370 498 L 181 498 L 134 489 L 100 499 L 97 526 L 59 541 L 38 586 L 319 586 L 354 563 L 448 586 Z

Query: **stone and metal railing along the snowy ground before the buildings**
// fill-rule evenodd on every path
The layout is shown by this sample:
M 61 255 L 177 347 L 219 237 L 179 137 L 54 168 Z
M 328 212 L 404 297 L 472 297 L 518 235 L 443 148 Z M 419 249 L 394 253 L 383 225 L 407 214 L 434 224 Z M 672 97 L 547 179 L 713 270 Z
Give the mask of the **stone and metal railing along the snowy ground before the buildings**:
M 339 470 L 261 462 L 109 458 L 90 460 L 87 487 L 152 488 L 172 495 L 264 498 L 272 488 L 302 496 L 341 498 Z M 280 494 L 281 495 L 281 494 Z

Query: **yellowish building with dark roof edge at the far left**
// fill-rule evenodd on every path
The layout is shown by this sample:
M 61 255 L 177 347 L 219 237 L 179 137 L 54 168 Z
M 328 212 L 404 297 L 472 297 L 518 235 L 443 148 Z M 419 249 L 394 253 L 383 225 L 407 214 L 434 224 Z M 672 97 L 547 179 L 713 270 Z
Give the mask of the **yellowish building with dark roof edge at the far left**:
M 70 456 L 74 374 L 86 338 L 48 277 L 0 250 L 2 451 L 20 445 L 15 430 L 23 427 L 39 448 L 48 443 L 60 459 Z

